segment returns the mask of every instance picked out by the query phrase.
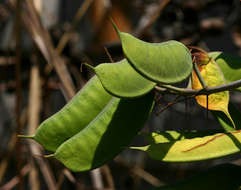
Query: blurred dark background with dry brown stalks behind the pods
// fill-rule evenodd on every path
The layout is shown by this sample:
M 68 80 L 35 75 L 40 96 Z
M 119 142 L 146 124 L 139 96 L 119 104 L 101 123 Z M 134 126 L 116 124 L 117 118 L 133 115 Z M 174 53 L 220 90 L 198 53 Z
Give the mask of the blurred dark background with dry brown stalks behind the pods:
M 61 109 L 97 65 L 123 58 L 110 21 L 149 42 L 178 40 L 206 51 L 241 56 L 239 0 L 0 0 L 0 189 L 146 189 L 175 183 L 239 155 L 170 164 L 125 150 L 100 169 L 72 173 L 41 146 L 19 140 Z M 175 97 L 162 97 L 158 112 Z M 241 109 L 241 96 L 231 93 Z M 153 114 L 143 131 L 220 129 L 206 110 L 188 100 Z M 124 137 L 123 137 L 124 138 Z M 111 143 L 111 142 L 110 142 Z M 137 137 L 133 144 L 143 145 Z

